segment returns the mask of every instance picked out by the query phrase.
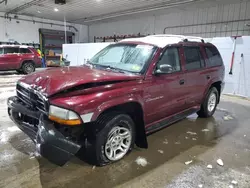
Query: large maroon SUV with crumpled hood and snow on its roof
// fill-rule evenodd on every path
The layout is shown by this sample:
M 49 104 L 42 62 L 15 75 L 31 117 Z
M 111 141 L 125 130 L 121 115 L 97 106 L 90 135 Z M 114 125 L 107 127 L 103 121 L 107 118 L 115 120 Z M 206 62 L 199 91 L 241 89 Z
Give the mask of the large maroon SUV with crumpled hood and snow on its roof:
M 212 116 L 223 79 L 217 48 L 200 38 L 126 39 L 81 67 L 23 77 L 8 113 L 50 161 L 63 165 L 80 153 L 105 165 L 134 144 L 147 148 L 148 133 L 193 113 Z

